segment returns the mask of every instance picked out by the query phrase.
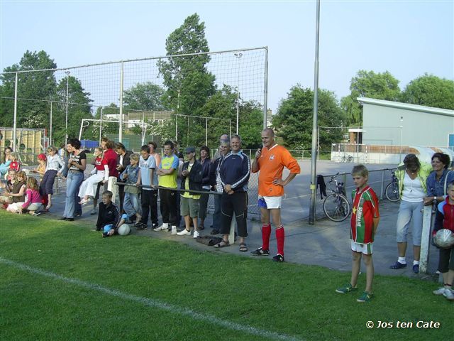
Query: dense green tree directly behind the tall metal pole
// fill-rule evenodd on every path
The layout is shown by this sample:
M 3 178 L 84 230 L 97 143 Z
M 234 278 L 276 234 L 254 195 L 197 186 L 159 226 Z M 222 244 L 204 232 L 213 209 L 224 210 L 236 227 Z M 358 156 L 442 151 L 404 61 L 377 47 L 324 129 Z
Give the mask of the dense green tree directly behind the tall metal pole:
M 284 144 L 291 149 L 310 149 L 312 141 L 312 114 L 314 112 L 314 92 L 309 88 L 296 85 L 290 89 L 286 99 L 282 99 L 277 114 L 272 119 L 272 126 L 277 136 L 284 139 Z M 342 109 L 333 92 L 319 90 L 319 126 L 341 126 L 345 119 Z M 321 131 L 322 149 L 341 141 L 341 129 Z

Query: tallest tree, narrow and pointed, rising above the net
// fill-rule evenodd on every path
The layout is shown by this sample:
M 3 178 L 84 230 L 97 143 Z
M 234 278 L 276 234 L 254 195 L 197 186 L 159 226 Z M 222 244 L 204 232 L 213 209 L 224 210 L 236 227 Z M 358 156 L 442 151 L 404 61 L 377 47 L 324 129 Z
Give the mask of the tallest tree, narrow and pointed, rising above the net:
M 197 13 L 188 16 L 182 26 L 170 33 L 165 41 L 167 55 L 209 52 L 205 24 Z M 196 115 L 207 99 L 214 94 L 214 75 L 206 69 L 208 54 L 170 57 L 158 61 L 164 77 L 165 104 L 175 112 Z

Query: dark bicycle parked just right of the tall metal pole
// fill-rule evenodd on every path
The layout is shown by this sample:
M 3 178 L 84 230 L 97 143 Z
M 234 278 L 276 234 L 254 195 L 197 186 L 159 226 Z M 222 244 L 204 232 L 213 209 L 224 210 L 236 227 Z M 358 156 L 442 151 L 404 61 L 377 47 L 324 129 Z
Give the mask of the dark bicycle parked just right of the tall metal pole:
M 338 175 L 339 173 L 331 176 L 331 180 L 328 183 L 333 193 L 323 200 L 323 212 L 333 222 L 342 222 L 350 215 L 350 203 L 345 195 L 344 183 L 336 180 Z M 334 184 L 334 186 L 331 184 Z

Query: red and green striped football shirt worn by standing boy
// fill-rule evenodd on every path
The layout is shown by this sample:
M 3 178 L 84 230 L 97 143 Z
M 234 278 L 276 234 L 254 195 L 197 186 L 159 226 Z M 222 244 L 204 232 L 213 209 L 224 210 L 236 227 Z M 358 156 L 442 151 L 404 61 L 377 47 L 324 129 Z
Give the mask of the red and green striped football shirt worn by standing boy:
M 350 222 L 350 239 L 358 244 L 374 242 L 374 218 L 380 217 L 378 199 L 374 190 L 366 186 L 361 191 L 356 188 L 352 192 L 353 210 Z

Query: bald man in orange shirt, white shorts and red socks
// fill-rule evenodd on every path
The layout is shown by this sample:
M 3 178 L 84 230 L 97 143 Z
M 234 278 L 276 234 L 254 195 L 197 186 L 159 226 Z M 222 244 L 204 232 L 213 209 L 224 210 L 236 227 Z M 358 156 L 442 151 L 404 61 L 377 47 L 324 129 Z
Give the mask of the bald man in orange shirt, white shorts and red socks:
M 263 148 L 255 153 L 251 166 L 253 173 L 260 171 L 258 175 L 258 205 L 262 215 L 262 247 L 251 254 L 254 256 L 268 256 L 270 254 L 270 235 L 272 222 L 276 228 L 277 255 L 273 261 L 284 261 L 284 225 L 281 221 L 281 203 L 284 195 L 284 186 L 293 180 L 301 171 L 297 160 L 275 142 L 275 133 L 267 128 L 262 131 Z M 289 169 L 290 174 L 282 180 L 284 167 Z

